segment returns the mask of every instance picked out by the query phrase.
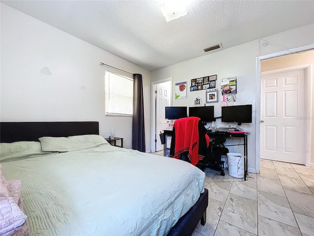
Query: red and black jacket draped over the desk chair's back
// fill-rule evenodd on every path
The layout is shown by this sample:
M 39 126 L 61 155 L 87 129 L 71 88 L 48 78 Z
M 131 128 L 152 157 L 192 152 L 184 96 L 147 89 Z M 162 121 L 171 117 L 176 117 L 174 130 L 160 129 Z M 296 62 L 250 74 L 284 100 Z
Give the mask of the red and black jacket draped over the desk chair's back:
M 180 159 L 181 154 L 188 151 L 188 159 L 195 166 L 199 160 L 204 159 L 206 152 L 206 148 L 200 148 L 200 145 L 206 145 L 206 148 L 209 146 L 209 136 L 200 118 L 177 119 L 173 125 L 170 157 Z

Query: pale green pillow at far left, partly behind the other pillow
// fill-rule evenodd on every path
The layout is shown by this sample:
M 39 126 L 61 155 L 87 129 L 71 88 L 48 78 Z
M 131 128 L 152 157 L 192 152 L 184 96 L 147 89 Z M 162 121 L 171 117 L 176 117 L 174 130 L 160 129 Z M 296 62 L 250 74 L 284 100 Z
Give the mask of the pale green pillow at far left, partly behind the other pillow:
M 19 141 L 0 144 L 0 161 L 16 160 L 25 157 L 35 157 L 52 152 L 43 151 L 40 142 Z

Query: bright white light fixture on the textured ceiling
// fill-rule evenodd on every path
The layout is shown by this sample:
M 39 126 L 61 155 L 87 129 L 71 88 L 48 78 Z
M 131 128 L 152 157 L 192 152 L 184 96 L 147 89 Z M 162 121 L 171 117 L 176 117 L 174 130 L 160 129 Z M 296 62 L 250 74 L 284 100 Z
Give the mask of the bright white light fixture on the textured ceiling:
M 186 4 L 184 0 L 167 0 L 159 6 L 166 22 L 178 19 L 187 14 Z

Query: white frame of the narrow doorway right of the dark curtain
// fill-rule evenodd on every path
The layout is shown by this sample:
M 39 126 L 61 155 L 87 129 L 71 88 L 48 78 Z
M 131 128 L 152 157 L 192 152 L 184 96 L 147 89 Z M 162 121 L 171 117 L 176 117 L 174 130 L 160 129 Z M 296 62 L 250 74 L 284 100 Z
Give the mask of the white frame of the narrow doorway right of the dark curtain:
M 156 146 L 155 146 L 155 139 L 157 139 L 156 135 L 156 99 L 155 99 L 155 85 L 161 84 L 164 82 L 170 81 L 170 105 L 172 105 L 172 77 L 163 79 L 163 80 L 157 80 L 152 82 L 152 111 L 151 111 L 151 117 L 152 117 L 152 124 L 151 124 L 151 152 L 156 151 Z

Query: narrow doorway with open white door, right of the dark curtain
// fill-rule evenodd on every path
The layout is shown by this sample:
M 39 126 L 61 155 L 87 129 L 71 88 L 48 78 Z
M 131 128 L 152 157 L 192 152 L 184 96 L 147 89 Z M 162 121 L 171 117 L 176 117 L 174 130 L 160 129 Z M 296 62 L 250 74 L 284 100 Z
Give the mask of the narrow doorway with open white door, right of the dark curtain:
M 165 107 L 171 106 L 172 77 L 152 82 L 152 143 L 151 151 L 163 150 L 159 133 L 166 129 Z

